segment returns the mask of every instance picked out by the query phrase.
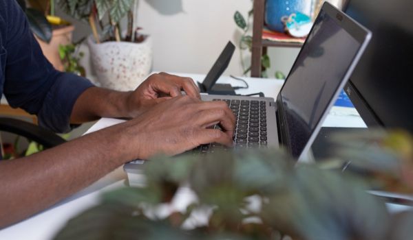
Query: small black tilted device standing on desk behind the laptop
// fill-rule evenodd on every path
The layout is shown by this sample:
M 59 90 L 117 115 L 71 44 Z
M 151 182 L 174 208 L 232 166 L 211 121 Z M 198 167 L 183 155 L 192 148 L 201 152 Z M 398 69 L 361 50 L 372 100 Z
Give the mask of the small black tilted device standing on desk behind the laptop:
M 231 41 L 229 41 L 218 59 L 213 64 L 211 70 L 209 70 L 207 76 L 204 78 L 204 81 L 202 83 L 198 82 L 201 93 L 235 95 L 234 88 L 231 84 L 215 84 L 218 78 L 220 78 L 222 73 L 225 71 L 226 67 L 228 67 L 234 51 L 235 46 L 231 43 Z

